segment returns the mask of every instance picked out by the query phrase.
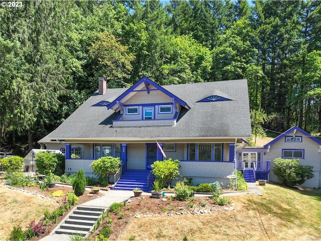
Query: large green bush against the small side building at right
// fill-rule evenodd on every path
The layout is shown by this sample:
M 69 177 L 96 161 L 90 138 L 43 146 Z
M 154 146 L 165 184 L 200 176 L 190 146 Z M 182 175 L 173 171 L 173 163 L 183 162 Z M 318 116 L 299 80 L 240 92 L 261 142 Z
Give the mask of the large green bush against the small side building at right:
M 306 180 L 314 177 L 312 166 L 303 166 L 299 159 L 276 158 L 273 165 L 273 173 L 283 184 L 293 187 L 303 184 Z

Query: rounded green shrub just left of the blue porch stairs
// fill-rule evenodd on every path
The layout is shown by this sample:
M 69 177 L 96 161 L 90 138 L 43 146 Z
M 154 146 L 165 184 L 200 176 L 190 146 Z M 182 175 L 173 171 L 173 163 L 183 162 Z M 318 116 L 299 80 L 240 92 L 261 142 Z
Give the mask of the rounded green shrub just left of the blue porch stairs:
M 108 183 L 110 183 L 110 176 L 118 171 L 121 167 L 121 162 L 118 157 L 102 157 L 93 161 L 89 166 L 94 173 L 103 175 L 108 180 Z

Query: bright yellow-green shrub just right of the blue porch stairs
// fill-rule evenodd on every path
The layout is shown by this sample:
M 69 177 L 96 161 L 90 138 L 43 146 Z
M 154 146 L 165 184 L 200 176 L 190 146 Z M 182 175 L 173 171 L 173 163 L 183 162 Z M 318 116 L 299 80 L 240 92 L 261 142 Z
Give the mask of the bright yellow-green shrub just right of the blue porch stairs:
M 172 160 L 169 158 L 164 161 L 155 161 L 150 166 L 155 177 L 164 179 L 166 185 L 169 187 L 172 185 L 172 181 L 180 175 L 179 169 L 181 166 L 179 163 L 179 160 Z

